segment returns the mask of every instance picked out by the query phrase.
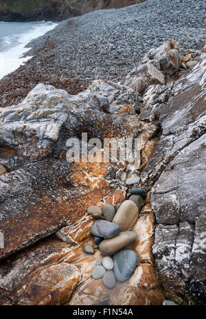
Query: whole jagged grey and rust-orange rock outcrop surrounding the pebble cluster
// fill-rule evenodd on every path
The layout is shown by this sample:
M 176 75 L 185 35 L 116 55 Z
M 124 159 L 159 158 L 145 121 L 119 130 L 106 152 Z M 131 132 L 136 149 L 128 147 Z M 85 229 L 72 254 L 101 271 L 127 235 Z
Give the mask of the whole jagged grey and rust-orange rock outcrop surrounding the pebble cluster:
M 179 45 L 169 41 L 122 84 L 95 80 L 77 96 L 41 84 L 1 109 L 1 305 L 205 303 L 203 50 L 194 52 L 202 58 L 193 69 L 180 69 Z M 162 80 L 152 82 L 154 74 Z M 100 140 L 139 137 L 138 165 L 68 163 L 67 139 L 84 132 Z M 85 243 L 97 248 L 87 208 L 122 203 L 132 176 L 147 190 L 130 248 L 139 265 L 110 290 L 91 277 L 100 250 L 83 252 Z

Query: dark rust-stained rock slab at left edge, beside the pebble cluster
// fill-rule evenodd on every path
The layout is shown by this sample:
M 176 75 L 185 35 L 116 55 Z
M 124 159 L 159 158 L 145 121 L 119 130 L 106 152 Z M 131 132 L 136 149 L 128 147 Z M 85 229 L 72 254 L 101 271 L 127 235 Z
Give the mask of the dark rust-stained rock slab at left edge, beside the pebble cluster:
M 94 181 L 92 176 L 84 176 L 78 166 L 55 159 L 3 175 L 0 228 L 5 248 L 0 250 L 1 258 L 77 221 L 87 210 L 85 203 L 98 203 L 111 189 L 103 177 Z

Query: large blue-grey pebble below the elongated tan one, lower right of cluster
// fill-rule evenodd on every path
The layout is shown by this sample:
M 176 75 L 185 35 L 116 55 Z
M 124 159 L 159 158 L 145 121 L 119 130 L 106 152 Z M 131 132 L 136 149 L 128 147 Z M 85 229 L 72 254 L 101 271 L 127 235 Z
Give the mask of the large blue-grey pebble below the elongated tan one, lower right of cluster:
M 133 250 L 117 252 L 114 256 L 114 273 L 117 281 L 128 280 L 138 263 L 137 254 Z

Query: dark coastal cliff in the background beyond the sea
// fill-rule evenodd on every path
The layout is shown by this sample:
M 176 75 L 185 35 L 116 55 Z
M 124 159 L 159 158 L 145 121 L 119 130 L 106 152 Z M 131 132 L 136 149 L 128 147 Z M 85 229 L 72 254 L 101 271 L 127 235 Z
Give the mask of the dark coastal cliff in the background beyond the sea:
M 0 21 L 61 21 L 93 10 L 122 8 L 138 0 L 0 0 Z

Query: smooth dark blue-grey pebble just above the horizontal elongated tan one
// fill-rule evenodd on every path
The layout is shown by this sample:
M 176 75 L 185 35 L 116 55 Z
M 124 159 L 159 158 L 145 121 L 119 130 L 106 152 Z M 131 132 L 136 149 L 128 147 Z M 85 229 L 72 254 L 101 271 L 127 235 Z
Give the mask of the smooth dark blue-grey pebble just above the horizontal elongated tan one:
M 91 228 L 91 234 L 97 237 L 103 238 L 113 238 L 117 236 L 120 232 L 120 227 L 116 223 L 111 223 L 111 221 L 103 221 L 101 219 L 95 221 Z

